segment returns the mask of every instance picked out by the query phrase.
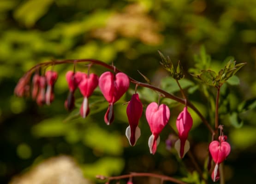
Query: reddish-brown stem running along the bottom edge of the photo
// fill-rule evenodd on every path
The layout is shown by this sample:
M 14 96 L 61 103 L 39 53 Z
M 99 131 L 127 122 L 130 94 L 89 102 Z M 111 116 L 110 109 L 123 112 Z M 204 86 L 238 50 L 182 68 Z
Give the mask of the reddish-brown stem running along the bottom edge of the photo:
M 161 175 L 161 174 L 155 174 L 155 173 L 130 173 L 130 174 L 125 174 L 125 175 L 121 175 L 121 176 L 112 176 L 112 177 L 104 177 L 104 176 L 98 175 L 98 176 L 96 176 L 96 178 L 101 179 L 101 180 L 107 179 L 108 181 L 111 181 L 111 180 L 119 180 L 119 179 L 132 178 L 132 177 L 145 177 L 145 176 L 153 177 L 153 178 L 160 178 L 161 181 L 171 181 L 176 184 L 186 184 L 185 182 L 180 181 L 179 179 Z

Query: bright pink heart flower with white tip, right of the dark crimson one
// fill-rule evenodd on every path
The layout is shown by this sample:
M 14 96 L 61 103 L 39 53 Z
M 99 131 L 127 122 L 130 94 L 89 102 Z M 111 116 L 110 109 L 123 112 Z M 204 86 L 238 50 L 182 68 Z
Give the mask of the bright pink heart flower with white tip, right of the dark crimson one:
M 152 102 L 146 109 L 146 118 L 152 132 L 149 137 L 149 150 L 154 155 L 160 142 L 159 134 L 169 121 L 170 110 L 165 104 L 158 106 L 158 104 Z

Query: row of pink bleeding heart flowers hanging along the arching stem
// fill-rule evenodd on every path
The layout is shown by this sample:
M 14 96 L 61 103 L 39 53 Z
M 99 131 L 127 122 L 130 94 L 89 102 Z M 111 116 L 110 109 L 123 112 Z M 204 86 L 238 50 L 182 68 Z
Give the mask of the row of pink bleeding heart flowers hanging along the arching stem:
M 40 76 L 34 74 L 32 78 L 32 98 L 39 105 L 51 104 L 54 100 L 54 84 L 58 74 L 55 71 L 47 71 L 45 75 Z M 29 75 L 21 78 L 15 89 L 17 96 L 24 96 L 29 93 Z M 122 73 L 104 72 L 98 77 L 95 74 L 86 74 L 83 72 L 68 71 L 66 73 L 66 81 L 69 88 L 67 99 L 65 100 L 65 108 L 72 110 L 75 107 L 75 91 L 79 88 L 83 95 L 83 102 L 80 107 L 80 115 L 85 118 L 89 115 L 89 96 L 92 95 L 95 88 L 99 86 L 104 98 L 108 102 L 107 112 L 104 116 L 104 121 L 110 125 L 114 120 L 114 104 L 125 94 L 130 85 L 129 77 Z M 134 146 L 141 135 L 141 130 L 138 127 L 139 119 L 143 114 L 143 104 L 140 101 L 139 94 L 135 92 L 131 100 L 128 102 L 126 114 L 129 121 L 129 126 L 126 128 L 125 135 L 131 146 Z M 157 145 L 160 142 L 160 133 L 167 125 L 170 118 L 170 110 L 165 104 L 157 104 L 152 102 L 146 108 L 146 119 L 149 123 L 152 135 L 149 137 L 150 153 L 155 154 Z M 183 158 L 189 149 L 187 141 L 188 132 L 192 126 L 191 115 L 187 111 L 187 107 L 178 116 L 177 129 L 179 132 L 179 140 L 175 143 L 179 157 Z

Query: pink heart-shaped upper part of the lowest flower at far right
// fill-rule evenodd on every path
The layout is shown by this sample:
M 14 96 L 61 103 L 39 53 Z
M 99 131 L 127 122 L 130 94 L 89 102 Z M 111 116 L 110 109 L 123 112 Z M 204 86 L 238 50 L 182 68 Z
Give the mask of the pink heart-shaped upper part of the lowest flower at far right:
M 221 163 L 230 153 L 230 145 L 227 142 L 212 141 L 209 145 L 209 151 L 215 163 Z

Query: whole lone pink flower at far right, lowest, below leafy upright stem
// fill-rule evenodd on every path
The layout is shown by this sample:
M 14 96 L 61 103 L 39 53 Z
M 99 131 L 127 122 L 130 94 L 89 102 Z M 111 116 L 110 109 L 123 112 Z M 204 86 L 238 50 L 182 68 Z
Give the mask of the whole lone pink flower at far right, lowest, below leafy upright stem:
M 231 147 L 226 142 L 226 136 L 220 136 L 219 141 L 212 141 L 209 144 L 209 151 L 212 155 L 213 161 L 215 162 L 215 167 L 213 171 L 213 181 L 218 180 L 218 170 L 219 165 L 221 162 L 223 162 L 226 157 L 230 154 Z

